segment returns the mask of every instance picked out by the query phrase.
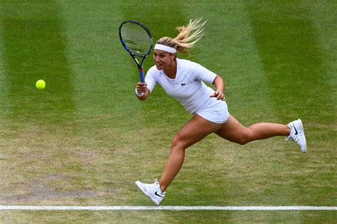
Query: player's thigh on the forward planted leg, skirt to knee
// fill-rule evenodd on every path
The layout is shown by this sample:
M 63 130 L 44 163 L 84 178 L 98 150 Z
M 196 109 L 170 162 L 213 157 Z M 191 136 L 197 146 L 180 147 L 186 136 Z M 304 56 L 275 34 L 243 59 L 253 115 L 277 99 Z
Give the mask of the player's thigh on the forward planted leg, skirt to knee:
M 200 117 L 198 114 L 194 115 L 176 134 L 173 139 L 173 144 L 186 149 L 188 146 L 199 142 L 201 139 L 218 130 L 223 124 L 216 124 Z

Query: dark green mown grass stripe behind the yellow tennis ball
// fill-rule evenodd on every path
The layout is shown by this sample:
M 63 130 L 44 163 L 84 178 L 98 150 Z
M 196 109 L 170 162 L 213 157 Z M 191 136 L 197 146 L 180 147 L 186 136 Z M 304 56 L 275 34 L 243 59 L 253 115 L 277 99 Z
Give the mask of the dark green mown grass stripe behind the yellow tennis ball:
M 54 124 L 71 119 L 72 73 L 58 4 L 4 2 L 0 16 L 11 118 Z M 46 90 L 36 90 L 39 79 L 46 81 Z

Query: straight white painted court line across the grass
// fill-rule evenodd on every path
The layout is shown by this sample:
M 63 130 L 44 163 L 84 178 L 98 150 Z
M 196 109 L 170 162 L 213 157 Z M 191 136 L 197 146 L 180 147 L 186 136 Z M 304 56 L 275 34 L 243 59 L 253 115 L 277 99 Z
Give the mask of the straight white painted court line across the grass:
M 0 206 L 0 210 L 337 210 L 337 206 Z

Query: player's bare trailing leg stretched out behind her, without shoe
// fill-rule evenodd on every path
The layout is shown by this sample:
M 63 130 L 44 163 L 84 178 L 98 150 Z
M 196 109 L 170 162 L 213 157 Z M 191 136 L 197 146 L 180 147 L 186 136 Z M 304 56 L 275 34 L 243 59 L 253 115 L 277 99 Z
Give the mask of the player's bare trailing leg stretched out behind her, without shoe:
M 288 136 L 290 129 L 286 124 L 274 123 L 257 123 L 250 127 L 245 127 L 230 116 L 228 121 L 223 124 L 218 131 L 215 132 L 220 137 L 227 139 L 230 142 L 238 144 L 247 144 L 260 139 L 268 139 L 275 136 Z

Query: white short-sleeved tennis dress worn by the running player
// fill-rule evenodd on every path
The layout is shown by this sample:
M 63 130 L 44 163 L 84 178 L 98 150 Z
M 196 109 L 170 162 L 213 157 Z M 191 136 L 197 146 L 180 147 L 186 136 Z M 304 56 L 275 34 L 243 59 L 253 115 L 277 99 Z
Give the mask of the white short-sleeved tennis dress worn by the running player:
M 213 83 L 215 73 L 191 60 L 176 58 L 176 78 L 171 79 L 164 70 L 156 65 L 146 73 L 145 82 L 150 92 L 158 82 L 165 92 L 176 98 L 191 114 L 198 114 L 210 122 L 222 124 L 227 121 L 229 113 L 225 101 L 210 97 L 215 92 L 204 82 Z

